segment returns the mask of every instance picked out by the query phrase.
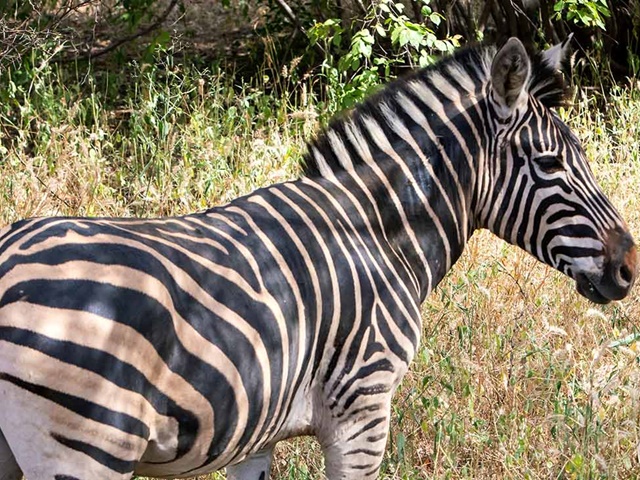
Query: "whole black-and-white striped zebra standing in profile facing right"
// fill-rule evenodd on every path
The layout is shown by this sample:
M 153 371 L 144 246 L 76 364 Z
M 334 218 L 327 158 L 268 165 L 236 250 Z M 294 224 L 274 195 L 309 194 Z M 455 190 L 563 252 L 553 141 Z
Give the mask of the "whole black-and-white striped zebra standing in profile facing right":
M 300 435 L 327 478 L 377 478 L 420 305 L 477 229 L 624 298 L 633 239 L 555 113 L 567 44 L 461 49 L 224 206 L 6 227 L 0 480 L 265 480 Z

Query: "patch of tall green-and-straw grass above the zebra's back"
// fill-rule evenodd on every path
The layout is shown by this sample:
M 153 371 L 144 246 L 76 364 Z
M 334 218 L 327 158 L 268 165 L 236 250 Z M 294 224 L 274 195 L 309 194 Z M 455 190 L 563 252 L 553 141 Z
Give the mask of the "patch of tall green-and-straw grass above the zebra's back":
M 236 85 L 171 57 L 120 72 L 46 65 L 17 76 L 0 93 L 5 223 L 201 210 L 295 176 L 315 125 L 314 112 L 266 93 L 262 78 Z

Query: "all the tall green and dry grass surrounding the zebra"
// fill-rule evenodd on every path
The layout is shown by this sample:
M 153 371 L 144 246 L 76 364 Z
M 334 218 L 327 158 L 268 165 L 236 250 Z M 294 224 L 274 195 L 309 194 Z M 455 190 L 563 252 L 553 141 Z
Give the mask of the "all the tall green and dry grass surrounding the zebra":
M 155 216 L 226 202 L 297 174 L 318 117 L 310 85 L 234 82 L 171 57 L 124 72 L 46 62 L 7 72 L 0 218 Z M 578 92 L 562 116 L 640 235 L 640 93 Z M 292 100 L 297 99 L 297 100 Z M 487 232 L 424 305 L 424 334 L 393 404 L 383 477 L 633 478 L 640 472 L 640 297 L 594 306 Z M 320 448 L 283 442 L 275 478 L 321 478 Z M 220 479 L 223 474 L 209 478 Z

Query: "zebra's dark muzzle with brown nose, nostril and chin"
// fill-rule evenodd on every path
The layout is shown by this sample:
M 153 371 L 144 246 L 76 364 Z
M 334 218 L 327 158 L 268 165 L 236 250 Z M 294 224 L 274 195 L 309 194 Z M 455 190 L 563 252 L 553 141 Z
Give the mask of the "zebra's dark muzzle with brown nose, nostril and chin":
M 605 304 L 622 300 L 631 291 L 637 274 L 637 251 L 626 230 L 616 228 L 608 234 L 607 258 L 602 273 L 576 272 L 578 293 L 594 303 Z

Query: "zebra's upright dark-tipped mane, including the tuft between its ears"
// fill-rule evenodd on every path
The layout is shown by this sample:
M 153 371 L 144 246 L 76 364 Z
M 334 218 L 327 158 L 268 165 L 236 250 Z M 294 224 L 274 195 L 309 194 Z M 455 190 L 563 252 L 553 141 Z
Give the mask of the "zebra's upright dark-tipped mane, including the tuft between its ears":
M 332 147 L 332 139 L 345 138 L 350 125 L 361 124 L 364 119 L 373 118 L 384 127 L 384 109 L 388 109 L 393 99 L 401 93 L 411 90 L 411 84 L 423 82 L 429 85 L 436 78 L 445 77 L 449 84 L 460 89 L 461 94 L 476 96 L 480 94 L 490 78 L 491 62 L 495 55 L 495 46 L 475 45 L 461 48 L 452 55 L 426 68 L 416 70 L 404 77 L 396 79 L 380 91 L 369 96 L 363 103 L 351 110 L 338 114 L 329 124 L 319 131 L 307 144 L 307 153 L 303 157 L 302 175 L 306 177 L 327 176 L 330 172 L 345 170 L 346 167 L 337 158 Z M 531 75 L 528 91 L 547 108 L 556 108 L 566 104 L 569 89 L 563 75 L 549 65 L 542 54 L 530 55 Z M 349 142 L 344 142 L 349 145 Z M 318 161 L 318 157 L 322 162 Z M 349 155 L 353 167 L 362 163 L 359 155 Z M 322 163 L 323 165 L 320 165 Z M 348 166 L 349 168 L 352 165 Z

